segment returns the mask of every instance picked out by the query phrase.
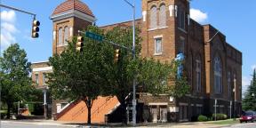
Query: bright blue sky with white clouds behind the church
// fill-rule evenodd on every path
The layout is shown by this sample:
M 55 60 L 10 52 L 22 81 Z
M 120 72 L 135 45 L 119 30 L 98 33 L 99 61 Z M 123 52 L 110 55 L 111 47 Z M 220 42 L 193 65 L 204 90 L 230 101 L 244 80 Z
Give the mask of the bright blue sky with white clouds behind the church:
M 28 12 L 36 13 L 40 20 L 39 38 L 32 39 L 32 16 L 1 8 L 1 52 L 10 44 L 18 43 L 28 53 L 31 62 L 48 60 L 52 55 L 52 20 L 55 7 L 65 0 L 0 0 Z M 96 24 L 104 26 L 132 20 L 132 7 L 124 0 L 82 0 L 97 18 Z M 141 0 L 135 1 L 136 18 L 141 18 Z M 192 0 L 191 18 L 226 35 L 228 44 L 243 52 L 243 89 L 250 84 L 252 70 L 256 68 L 256 0 Z

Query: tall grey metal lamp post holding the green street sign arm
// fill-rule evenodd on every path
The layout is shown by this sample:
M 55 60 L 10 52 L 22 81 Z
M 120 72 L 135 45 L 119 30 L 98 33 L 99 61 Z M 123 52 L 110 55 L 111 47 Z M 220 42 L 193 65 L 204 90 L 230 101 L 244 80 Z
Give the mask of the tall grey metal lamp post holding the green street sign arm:
M 133 13 L 132 13 L 132 58 L 135 60 L 135 0 L 133 1 L 133 4 L 128 2 L 127 0 L 124 0 L 127 4 L 129 4 L 132 7 Z M 136 124 L 136 80 L 135 80 L 135 73 L 133 77 L 132 82 L 132 124 L 133 126 Z

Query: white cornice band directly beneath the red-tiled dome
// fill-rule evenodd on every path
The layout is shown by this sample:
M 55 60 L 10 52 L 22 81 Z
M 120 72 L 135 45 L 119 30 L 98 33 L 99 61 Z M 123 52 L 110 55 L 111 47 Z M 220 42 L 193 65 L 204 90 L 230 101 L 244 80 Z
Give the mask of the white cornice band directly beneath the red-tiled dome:
M 53 21 L 56 21 L 56 20 L 62 20 L 62 19 L 67 19 L 67 18 L 70 18 L 70 17 L 78 17 L 80 19 L 83 19 L 83 20 L 87 20 L 87 21 L 90 21 L 90 22 L 95 22 L 96 19 L 84 12 L 79 12 L 79 11 L 76 11 L 76 10 L 69 10 L 69 11 L 66 11 L 66 12 L 60 12 L 58 14 L 54 14 L 52 15 L 51 17 L 51 20 Z

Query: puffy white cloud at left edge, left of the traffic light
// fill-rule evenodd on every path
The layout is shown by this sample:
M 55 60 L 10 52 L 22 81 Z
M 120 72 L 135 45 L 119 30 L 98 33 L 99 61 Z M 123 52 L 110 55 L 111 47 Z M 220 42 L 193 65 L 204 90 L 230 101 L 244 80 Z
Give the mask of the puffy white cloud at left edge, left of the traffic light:
M 16 43 L 15 34 L 19 30 L 15 27 L 16 14 L 13 11 L 1 12 L 1 50 L 4 51 L 10 44 Z

